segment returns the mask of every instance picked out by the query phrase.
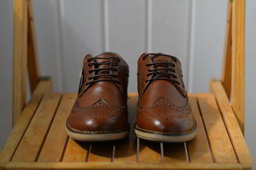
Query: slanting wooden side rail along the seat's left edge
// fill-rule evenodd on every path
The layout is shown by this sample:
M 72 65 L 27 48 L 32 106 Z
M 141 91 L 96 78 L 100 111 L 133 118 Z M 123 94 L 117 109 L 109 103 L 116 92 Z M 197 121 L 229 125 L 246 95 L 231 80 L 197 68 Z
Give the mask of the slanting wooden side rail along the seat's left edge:
M 24 111 L 22 111 L 19 120 L 13 127 L 10 136 L 6 140 L 6 144 L 0 155 L 0 164 L 5 164 L 10 161 L 13 153 L 15 152 L 15 149 L 17 148 L 17 145 L 20 142 L 20 139 L 22 138 L 29 122 L 31 121 L 31 118 L 38 108 L 43 95 L 49 91 L 51 91 L 51 79 L 40 81 L 38 83 L 35 92 L 33 92 L 31 96 L 31 100 L 29 101 Z

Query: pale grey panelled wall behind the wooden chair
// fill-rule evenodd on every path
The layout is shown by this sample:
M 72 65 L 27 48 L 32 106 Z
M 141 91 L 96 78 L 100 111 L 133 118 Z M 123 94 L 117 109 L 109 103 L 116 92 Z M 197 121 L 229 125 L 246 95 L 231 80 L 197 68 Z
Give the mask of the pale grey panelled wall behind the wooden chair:
M 0 146 L 11 129 L 12 1 L 0 0 Z M 136 92 L 136 60 L 143 52 L 179 57 L 189 92 L 207 92 L 219 78 L 227 1 L 223 0 L 45 0 L 33 1 L 42 75 L 54 91 L 76 92 L 86 53 L 113 51 L 130 66 L 129 92 Z M 246 1 L 246 141 L 256 157 L 253 75 L 256 1 Z M 254 95 L 253 95 L 254 94 Z

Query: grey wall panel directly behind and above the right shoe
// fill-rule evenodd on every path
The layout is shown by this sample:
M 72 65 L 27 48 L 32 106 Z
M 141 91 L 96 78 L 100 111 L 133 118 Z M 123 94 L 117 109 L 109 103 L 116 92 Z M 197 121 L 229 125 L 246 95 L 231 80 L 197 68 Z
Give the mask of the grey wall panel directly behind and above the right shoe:
M 152 52 L 168 53 L 179 58 L 186 88 L 189 66 L 189 1 L 152 1 Z

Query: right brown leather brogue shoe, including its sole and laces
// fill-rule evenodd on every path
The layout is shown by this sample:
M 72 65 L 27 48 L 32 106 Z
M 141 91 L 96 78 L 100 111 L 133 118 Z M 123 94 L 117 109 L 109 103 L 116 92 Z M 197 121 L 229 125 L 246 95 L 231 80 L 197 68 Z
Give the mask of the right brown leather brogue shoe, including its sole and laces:
M 182 80 L 180 61 L 162 53 L 143 53 L 138 59 L 137 75 L 136 136 L 167 142 L 193 139 L 196 122 Z

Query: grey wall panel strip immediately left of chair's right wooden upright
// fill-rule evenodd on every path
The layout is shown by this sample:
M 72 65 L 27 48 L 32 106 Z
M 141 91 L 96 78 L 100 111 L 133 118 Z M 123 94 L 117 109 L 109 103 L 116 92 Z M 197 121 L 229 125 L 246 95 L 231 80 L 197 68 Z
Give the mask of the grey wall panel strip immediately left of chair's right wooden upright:
M 209 79 L 220 78 L 227 2 L 196 1 L 192 92 L 207 92 Z

